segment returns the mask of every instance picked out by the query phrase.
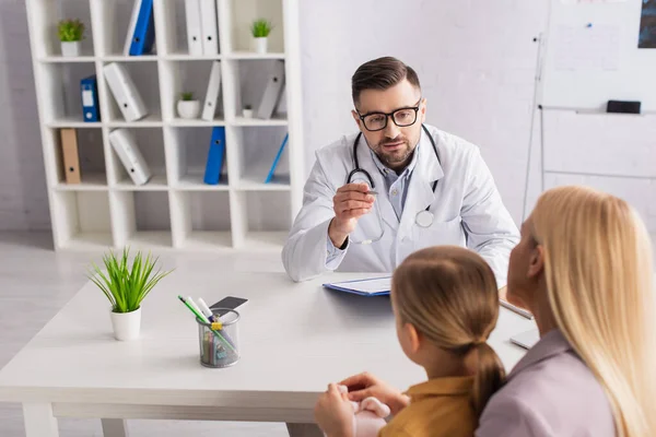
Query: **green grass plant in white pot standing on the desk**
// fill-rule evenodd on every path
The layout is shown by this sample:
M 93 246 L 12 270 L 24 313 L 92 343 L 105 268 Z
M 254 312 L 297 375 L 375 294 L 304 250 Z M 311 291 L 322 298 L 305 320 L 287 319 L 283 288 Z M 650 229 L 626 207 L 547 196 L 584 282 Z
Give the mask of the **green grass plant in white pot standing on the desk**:
M 117 257 L 109 251 L 103 257 L 105 271 L 95 263 L 89 279 L 101 288 L 112 305 L 112 327 L 116 340 L 128 341 L 139 336 L 141 327 L 141 303 L 153 287 L 172 271 L 155 271 L 159 258 L 149 253 L 145 258 L 138 251 L 129 260 L 129 249 Z

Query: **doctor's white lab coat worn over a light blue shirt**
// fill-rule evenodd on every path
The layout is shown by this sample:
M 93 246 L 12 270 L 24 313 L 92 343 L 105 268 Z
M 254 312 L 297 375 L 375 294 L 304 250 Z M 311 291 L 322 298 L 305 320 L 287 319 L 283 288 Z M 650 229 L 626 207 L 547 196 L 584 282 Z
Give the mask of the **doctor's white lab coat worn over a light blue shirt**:
M 458 245 L 480 253 L 494 271 L 499 287 L 505 286 L 509 252 L 519 241 L 519 233 L 503 205 L 492 175 L 476 145 L 426 127 L 435 140 L 441 163 L 422 130 L 418 162 L 400 221 L 389 202 L 383 175 L 362 137 L 358 158 L 379 192 L 376 201 L 385 234 L 371 245 L 349 243 L 330 265 L 326 261 L 328 225 L 335 216 L 332 198 L 337 189 L 347 184 L 353 169 L 355 134 L 316 152 L 316 163 L 305 184 L 303 208 L 282 250 L 282 262 L 292 280 L 304 281 L 329 270 L 390 273 L 415 250 Z M 432 191 L 434 180 L 438 180 L 435 193 Z M 417 225 L 415 216 L 429 205 L 434 220 L 424 228 Z M 351 234 L 353 240 L 379 234 L 375 210 L 359 220 Z

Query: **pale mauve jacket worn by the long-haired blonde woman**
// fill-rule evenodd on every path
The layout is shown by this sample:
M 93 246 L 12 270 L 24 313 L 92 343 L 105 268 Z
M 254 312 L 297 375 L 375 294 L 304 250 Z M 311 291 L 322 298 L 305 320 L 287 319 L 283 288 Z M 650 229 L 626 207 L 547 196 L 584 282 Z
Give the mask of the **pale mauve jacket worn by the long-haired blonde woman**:
M 543 335 L 490 400 L 476 437 L 614 437 L 610 403 L 560 330 Z

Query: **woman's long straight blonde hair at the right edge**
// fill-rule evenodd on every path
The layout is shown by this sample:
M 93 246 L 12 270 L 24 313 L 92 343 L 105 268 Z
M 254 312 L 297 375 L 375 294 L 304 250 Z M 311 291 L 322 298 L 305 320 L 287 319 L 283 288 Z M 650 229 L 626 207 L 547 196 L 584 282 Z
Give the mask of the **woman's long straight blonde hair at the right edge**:
M 560 187 L 540 197 L 529 223 L 555 322 L 602 385 L 618 436 L 656 435 L 656 300 L 642 221 L 613 196 Z

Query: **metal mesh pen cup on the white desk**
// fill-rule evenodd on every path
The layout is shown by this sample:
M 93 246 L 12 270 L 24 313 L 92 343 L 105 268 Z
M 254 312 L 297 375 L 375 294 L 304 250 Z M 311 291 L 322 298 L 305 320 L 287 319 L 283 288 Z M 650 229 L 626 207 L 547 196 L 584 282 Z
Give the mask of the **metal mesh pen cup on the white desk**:
M 219 323 L 206 323 L 196 319 L 198 323 L 198 340 L 200 346 L 200 364 L 206 367 L 230 367 L 239 359 L 239 339 L 237 326 L 239 314 L 229 308 L 212 308 L 219 314 L 214 319 Z

